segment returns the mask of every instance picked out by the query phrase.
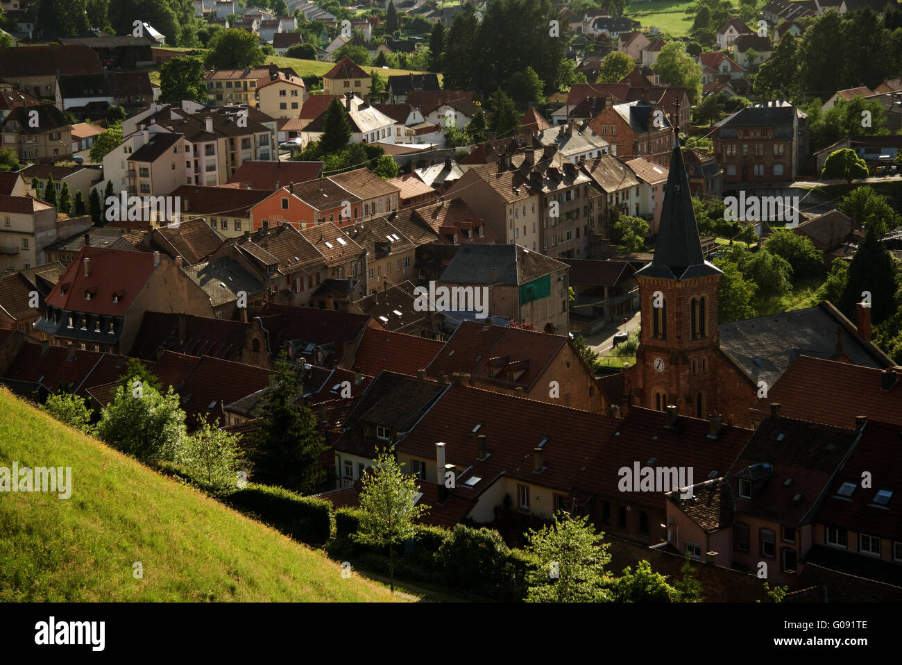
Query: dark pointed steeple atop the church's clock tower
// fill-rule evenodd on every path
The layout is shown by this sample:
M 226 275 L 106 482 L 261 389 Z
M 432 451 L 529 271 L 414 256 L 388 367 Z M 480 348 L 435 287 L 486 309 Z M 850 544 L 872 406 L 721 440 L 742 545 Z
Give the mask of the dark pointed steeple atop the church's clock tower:
M 676 133 L 675 133 L 676 134 Z M 655 254 L 651 263 L 636 272 L 645 277 L 668 280 L 685 280 L 704 277 L 721 271 L 704 260 L 702 242 L 698 237 L 698 225 L 692 208 L 692 192 L 686 177 L 686 164 L 679 139 L 674 136 L 674 150 L 670 155 L 670 171 L 664 200 L 661 202 L 661 221 Z

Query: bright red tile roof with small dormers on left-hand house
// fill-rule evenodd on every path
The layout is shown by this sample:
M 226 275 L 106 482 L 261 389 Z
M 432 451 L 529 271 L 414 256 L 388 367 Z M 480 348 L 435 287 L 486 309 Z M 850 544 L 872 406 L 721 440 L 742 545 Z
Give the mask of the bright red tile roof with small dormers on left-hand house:
M 52 307 L 69 311 L 122 317 L 155 270 L 153 256 L 143 252 L 82 247 L 75 261 L 47 296 L 46 302 Z M 85 259 L 90 259 L 88 276 L 83 265 Z M 85 300 L 85 291 L 91 289 L 97 291 L 91 300 Z M 122 294 L 118 302 L 113 301 L 114 293 Z

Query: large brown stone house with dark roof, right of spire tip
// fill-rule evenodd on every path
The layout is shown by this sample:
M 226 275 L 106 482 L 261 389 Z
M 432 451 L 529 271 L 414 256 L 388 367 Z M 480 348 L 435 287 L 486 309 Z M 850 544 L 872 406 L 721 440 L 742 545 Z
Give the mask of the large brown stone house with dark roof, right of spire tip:
M 748 106 L 714 127 L 724 184 L 796 180 L 807 152 L 807 116 L 796 106 Z

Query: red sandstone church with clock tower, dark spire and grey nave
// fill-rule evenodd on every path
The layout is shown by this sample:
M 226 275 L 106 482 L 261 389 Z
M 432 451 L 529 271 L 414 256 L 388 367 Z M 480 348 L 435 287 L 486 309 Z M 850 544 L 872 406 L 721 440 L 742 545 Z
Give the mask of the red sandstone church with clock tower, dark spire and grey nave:
M 718 325 L 723 272 L 704 260 L 679 141 L 674 142 L 655 253 L 636 272 L 640 345 L 623 372 L 626 405 L 743 427 L 766 413 L 760 400 L 798 356 L 883 369 L 894 365 L 870 342 L 870 310 L 858 325 L 824 301 L 811 308 Z M 863 320 L 868 319 L 868 320 Z M 861 328 L 861 333 L 860 333 Z

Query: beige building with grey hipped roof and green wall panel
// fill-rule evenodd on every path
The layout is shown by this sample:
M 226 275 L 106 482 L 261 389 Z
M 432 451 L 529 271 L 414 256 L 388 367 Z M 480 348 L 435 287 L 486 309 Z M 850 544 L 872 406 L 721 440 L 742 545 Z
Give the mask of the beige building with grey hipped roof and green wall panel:
M 567 330 L 566 273 L 566 263 L 522 245 L 465 243 L 437 285 L 483 288 L 490 317 Z

